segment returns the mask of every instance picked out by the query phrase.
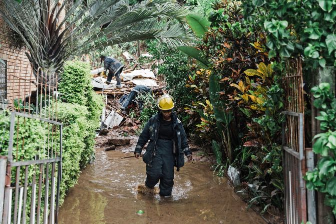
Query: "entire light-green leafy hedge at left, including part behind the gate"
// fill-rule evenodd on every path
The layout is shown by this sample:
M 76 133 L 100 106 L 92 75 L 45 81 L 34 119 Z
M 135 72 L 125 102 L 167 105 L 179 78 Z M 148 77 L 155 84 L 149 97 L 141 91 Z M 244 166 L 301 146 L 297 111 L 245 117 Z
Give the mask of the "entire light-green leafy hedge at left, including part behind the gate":
M 103 99 L 92 90 L 89 71 L 88 64 L 66 63 L 64 76 L 59 87 L 62 100 L 66 101 L 58 101 L 57 105 L 58 121 L 63 123 L 63 176 L 60 204 L 62 204 L 69 189 L 77 183 L 81 168 L 85 167 L 94 157 L 95 130 L 99 126 Z M 45 108 L 45 110 L 48 109 Z M 7 155 L 8 153 L 10 120 L 10 112 L 0 112 L 0 155 Z M 18 124 L 20 128 L 19 132 L 14 133 L 14 139 L 19 139 L 19 141 L 18 145 L 15 144 L 13 147 L 14 160 L 33 160 L 36 155 L 39 155 L 40 159 L 46 158 L 48 148 L 42 151 L 44 150 L 42 144 L 48 138 L 48 128 L 51 129 L 53 126 L 45 125 L 44 122 L 36 119 L 24 117 L 18 117 L 17 121 L 15 130 L 17 130 Z M 59 134 L 59 130 L 56 130 L 53 142 L 58 142 Z M 17 149 L 19 150 L 17 151 Z M 13 169 L 12 182 L 15 181 L 15 172 L 16 170 Z M 34 169 L 30 169 L 30 181 L 33 174 Z M 24 167 L 22 167 L 21 175 L 23 178 Z M 31 189 L 29 188 L 29 190 Z M 28 193 L 29 200 L 30 195 L 31 193 Z M 30 210 L 30 208 L 27 208 L 27 210 Z

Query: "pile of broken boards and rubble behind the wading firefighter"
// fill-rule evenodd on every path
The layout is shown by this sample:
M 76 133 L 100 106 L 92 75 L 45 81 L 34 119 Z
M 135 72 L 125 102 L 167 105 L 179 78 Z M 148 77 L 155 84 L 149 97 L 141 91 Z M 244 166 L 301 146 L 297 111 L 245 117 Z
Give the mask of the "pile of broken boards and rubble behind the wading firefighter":
M 132 135 L 137 132 L 141 122 L 135 117 L 130 117 L 126 111 L 121 109 L 122 103 L 128 98 L 131 91 L 134 91 L 137 85 L 150 88 L 153 94 L 161 95 L 165 93 L 162 90 L 164 83 L 157 80 L 151 69 L 143 68 L 136 70 L 138 64 L 135 64 L 132 69 L 127 69 L 130 62 L 134 59 L 127 52 L 124 52 L 123 56 L 128 65 L 126 66 L 126 70 L 120 74 L 121 87 L 116 87 L 117 81 L 115 77 L 111 80 L 110 85 L 105 83 L 106 78 L 101 76 L 104 68 L 91 71 L 91 75 L 93 76 L 92 84 L 96 93 L 103 95 L 105 98 L 105 107 L 101 116 L 101 131 L 97 139 L 98 145 L 106 147 L 105 151 L 115 150 L 116 147 L 122 150 L 122 148 L 127 148 L 130 142 L 137 139 L 137 136 Z M 151 57 L 151 55 L 146 55 L 145 57 Z M 110 131 L 111 129 L 113 131 Z

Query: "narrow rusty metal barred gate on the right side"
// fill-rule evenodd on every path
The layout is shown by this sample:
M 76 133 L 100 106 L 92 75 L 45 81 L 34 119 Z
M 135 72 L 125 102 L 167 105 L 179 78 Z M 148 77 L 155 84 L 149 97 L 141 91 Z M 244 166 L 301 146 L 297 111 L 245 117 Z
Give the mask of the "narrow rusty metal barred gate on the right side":
M 285 223 L 306 222 L 304 106 L 301 59 L 286 65 L 283 79 L 285 121 L 282 124 Z

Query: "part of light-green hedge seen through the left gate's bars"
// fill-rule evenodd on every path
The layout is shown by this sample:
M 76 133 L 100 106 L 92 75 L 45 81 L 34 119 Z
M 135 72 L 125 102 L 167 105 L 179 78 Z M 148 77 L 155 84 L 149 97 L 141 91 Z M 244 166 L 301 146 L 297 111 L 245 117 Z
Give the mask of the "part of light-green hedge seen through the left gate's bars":
M 9 138 L 10 138 L 10 125 L 11 125 L 11 113 L 9 111 L 0 111 L 0 155 L 8 156 L 8 147 L 9 147 Z M 44 121 L 37 119 L 24 118 L 16 116 L 15 126 L 14 126 L 14 144 L 13 144 L 13 161 L 28 161 L 34 160 L 35 156 L 38 155 L 40 159 L 48 158 L 48 152 L 50 152 L 50 147 L 44 144 L 48 141 L 50 142 L 59 142 L 59 136 L 48 135 L 48 129 L 51 129 L 52 126 L 46 125 Z M 49 132 L 50 133 L 50 132 Z M 57 131 L 56 131 L 57 133 Z M 59 135 L 59 133 L 58 133 Z M 48 143 L 47 143 L 48 144 Z M 49 156 L 50 157 L 50 156 Z M 20 166 L 19 166 L 20 167 Z M 12 167 L 11 172 L 11 182 L 16 182 L 16 172 L 17 167 Z M 50 170 L 51 173 L 51 170 Z M 30 165 L 28 169 L 28 182 L 31 183 L 33 180 L 33 175 L 39 175 L 38 165 Z M 20 184 L 24 184 L 23 180 L 25 179 L 25 166 L 20 167 Z M 27 201 L 31 201 L 32 188 L 29 186 L 27 189 Z M 42 186 L 42 195 L 44 195 L 45 186 Z M 15 196 L 12 198 L 12 204 L 15 203 Z M 41 210 L 43 216 L 43 207 L 44 202 L 41 203 Z M 26 205 L 26 220 L 29 222 L 29 212 L 30 204 Z M 14 211 L 12 210 L 12 215 Z

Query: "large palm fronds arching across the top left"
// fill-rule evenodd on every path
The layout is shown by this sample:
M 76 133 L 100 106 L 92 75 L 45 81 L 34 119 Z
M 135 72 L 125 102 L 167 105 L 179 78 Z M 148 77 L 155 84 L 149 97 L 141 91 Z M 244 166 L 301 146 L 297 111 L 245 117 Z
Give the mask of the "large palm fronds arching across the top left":
M 188 44 L 187 10 L 172 0 L 2 1 L 0 16 L 29 51 L 36 76 L 39 66 L 59 71 L 64 61 L 91 49 L 157 38 L 172 47 Z M 60 21 L 61 12 L 65 16 Z M 50 82 L 49 80 L 48 82 Z

